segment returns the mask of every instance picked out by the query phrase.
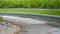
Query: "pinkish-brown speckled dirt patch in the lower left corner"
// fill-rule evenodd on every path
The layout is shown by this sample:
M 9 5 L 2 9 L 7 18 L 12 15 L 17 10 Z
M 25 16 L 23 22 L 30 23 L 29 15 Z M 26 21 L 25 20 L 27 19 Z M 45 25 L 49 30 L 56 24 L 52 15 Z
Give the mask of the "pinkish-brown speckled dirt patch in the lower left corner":
M 10 23 L 0 23 L 0 34 L 16 34 L 20 31 L 20 27 Z

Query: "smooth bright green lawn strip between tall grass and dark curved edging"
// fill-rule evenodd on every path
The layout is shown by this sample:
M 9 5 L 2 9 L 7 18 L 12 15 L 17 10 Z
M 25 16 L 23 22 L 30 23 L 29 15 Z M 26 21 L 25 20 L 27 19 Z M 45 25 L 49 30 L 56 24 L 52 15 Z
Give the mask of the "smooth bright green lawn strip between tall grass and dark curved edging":
M 60 16 L 60 10 L 23 10 L 23 9 L 0 9 L 0 12 L 15 12 L 25 14 L 49 14 Z

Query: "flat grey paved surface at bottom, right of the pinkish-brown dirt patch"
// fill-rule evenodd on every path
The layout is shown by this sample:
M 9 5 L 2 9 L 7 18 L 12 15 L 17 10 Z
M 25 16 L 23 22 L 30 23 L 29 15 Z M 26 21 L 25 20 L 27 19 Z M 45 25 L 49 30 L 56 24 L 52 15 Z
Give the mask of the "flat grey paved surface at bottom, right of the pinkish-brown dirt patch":
M 60 27 L 50 25 L 27 25 L 24 27 L 26 32 L 19 34 L 60 34 Z

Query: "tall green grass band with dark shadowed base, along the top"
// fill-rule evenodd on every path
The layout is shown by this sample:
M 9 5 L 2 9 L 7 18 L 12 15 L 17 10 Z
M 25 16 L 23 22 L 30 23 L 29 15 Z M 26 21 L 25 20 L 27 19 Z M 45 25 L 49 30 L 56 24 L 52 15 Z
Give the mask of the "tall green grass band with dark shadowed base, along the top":
M 0 0 L 0 8 L 60 8 L 60 0 Z

